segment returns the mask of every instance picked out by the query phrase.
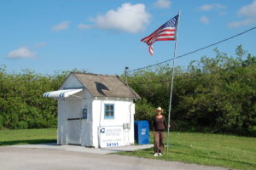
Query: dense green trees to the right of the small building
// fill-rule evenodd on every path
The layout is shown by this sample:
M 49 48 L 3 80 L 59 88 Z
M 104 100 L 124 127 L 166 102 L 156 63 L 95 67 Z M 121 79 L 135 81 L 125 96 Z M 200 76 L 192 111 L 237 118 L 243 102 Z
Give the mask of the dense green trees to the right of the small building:
M 211 133 L 256 131 L 256 57 L 242 46 L 236 56 L 214 49 L 214 57 L 176 67 L 171 125 L 175 130 Z M 128 82 L 143 99 L 137 101 L 136 119 L 152 120 L 161 106 L 168 116 L 172 69 L 159 65 L 133 72 Z M 254 130 L 254 131 L 253 131 Z

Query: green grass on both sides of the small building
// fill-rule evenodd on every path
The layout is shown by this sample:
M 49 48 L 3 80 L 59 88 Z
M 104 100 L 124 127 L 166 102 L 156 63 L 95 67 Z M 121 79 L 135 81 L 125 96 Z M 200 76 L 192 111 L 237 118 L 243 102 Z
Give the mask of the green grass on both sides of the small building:
M 167 137 L 167 135 L 166 135 Z M 0 130 L 0 145 L 56 142 L 56 129 Z M 153 137 L 150 135 L 150 143 Z M 211 133 L 170 133 L 169 154 L 154 157 L 154 150 L 119 152 L 166 161 L 183 161 L 236 169 L 256 169 L 256 138 Z

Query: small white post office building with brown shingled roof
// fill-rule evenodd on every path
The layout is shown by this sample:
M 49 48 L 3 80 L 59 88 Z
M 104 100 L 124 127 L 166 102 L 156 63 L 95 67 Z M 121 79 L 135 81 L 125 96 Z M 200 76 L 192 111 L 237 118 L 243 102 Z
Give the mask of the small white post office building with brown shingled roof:
M 140 96 L 119 77 L 72 72 L 59 90 L 44 97 L 58 100 L 57 144 L 134 144 L 133 100 Z

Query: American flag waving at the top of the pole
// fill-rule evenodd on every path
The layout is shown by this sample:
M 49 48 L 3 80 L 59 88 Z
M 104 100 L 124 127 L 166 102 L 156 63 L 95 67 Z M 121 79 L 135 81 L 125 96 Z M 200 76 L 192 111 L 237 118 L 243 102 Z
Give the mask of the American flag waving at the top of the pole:
M 149 46 L 149 54 L 153 55 L 153 43 L 157 41 L 172 41 L 176 38 L 178 15 L 168 20 L 163 26 L 154 31 L 148 37 L 144 37 L 141 41 Z

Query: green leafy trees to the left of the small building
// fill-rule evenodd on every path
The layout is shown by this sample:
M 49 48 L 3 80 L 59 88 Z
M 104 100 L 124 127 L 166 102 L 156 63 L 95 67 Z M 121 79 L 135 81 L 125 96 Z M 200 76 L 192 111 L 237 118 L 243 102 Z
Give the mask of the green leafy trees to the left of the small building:
M 8 74 L 0 68 L 0 128 L 56 127 L 57 105 L 43 98 L 61 86 L 66 72 L 44 76 L 30 70 Z

